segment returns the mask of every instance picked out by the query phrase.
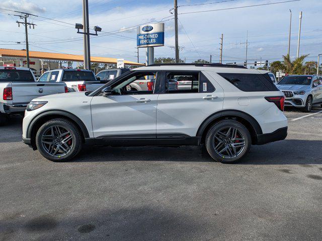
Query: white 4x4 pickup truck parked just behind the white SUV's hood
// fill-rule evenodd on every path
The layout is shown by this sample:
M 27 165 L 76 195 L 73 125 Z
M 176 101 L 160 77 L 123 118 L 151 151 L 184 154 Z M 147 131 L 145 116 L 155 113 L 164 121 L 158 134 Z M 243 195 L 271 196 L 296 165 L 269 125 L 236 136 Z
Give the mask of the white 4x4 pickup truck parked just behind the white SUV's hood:
M 45 72 L 39 82 L 65 82 L 68 92 L 94 91 L 107 81 L 97 80 L 94 73 L 87 69 L 53 69 Z

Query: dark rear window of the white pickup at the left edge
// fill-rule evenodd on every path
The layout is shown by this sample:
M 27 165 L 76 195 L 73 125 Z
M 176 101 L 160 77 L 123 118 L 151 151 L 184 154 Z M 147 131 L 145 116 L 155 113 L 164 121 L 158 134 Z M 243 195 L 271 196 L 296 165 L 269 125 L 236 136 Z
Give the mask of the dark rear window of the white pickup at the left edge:
M 0 69 L 0 82 L 34 82 L 29 70 Z

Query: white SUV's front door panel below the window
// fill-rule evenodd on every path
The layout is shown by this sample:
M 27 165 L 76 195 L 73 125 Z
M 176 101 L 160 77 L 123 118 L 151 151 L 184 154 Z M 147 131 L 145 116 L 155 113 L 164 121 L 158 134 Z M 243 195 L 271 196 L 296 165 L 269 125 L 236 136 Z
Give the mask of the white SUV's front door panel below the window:
M 95 96 L 91 101 L 94 137 L 155 135 L 157 94 Z

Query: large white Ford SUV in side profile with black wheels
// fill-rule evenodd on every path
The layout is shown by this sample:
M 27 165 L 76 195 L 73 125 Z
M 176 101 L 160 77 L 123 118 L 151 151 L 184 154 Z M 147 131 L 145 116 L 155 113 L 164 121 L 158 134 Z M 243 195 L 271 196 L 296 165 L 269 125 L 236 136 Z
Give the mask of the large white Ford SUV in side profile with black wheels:
M 152 90 L 130 87 L 155 76 Z M 176 79 L 191 87 L 169 88 Z M 140 67 L 93 92 L 34 99 L 25 113 L 23 141 L 47 159 L 73 158 L 86 143 L 99 146 L 204 144 L 223 163 L 243 158 L 251 145 L 284 140 L 284 94 L 267 71 L 223 64 Z

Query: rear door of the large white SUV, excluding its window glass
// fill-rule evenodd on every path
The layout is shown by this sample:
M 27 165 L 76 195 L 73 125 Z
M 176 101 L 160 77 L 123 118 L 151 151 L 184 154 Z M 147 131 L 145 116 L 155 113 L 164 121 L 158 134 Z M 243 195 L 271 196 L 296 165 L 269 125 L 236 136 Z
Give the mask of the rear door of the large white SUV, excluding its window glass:
M 214 92 L 159 94 L 156 134 L 178 133 L 194 137 L 201 123 L 222 109 L 223 89 L 208 73 L 203 74 L 215 87 Z

